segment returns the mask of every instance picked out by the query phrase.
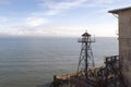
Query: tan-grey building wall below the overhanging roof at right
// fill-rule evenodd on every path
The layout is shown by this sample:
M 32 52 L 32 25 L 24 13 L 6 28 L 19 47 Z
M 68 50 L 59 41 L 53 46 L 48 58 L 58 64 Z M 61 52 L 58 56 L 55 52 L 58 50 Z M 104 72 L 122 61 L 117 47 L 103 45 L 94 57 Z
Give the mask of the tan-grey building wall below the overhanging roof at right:
M 120 67 L 128 87 L 131 87 L 131 10 L 118 15 Z

